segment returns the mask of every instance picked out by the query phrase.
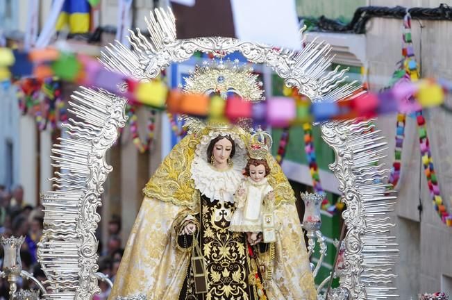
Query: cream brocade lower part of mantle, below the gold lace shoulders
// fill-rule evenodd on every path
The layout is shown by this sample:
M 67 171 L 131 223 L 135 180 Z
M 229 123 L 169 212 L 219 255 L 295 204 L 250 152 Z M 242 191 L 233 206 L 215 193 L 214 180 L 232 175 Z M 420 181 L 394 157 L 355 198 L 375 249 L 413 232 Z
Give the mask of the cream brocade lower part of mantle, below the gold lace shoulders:
M 178 215 L 190 213 L 184 206 L 144 198 L 126 244 L 110 300 L 144 294 L 149 300 L 174 300 L 183 288 L 191 251 L 177 245 Z M 274 272 L 267 291 L 269 300 L 315 300 L 303 232 L 293 203 L 276 208 Z M 212 275 L 210 275 L 212 276 Z M 214 300 L 214 299 L 212 299 Z

